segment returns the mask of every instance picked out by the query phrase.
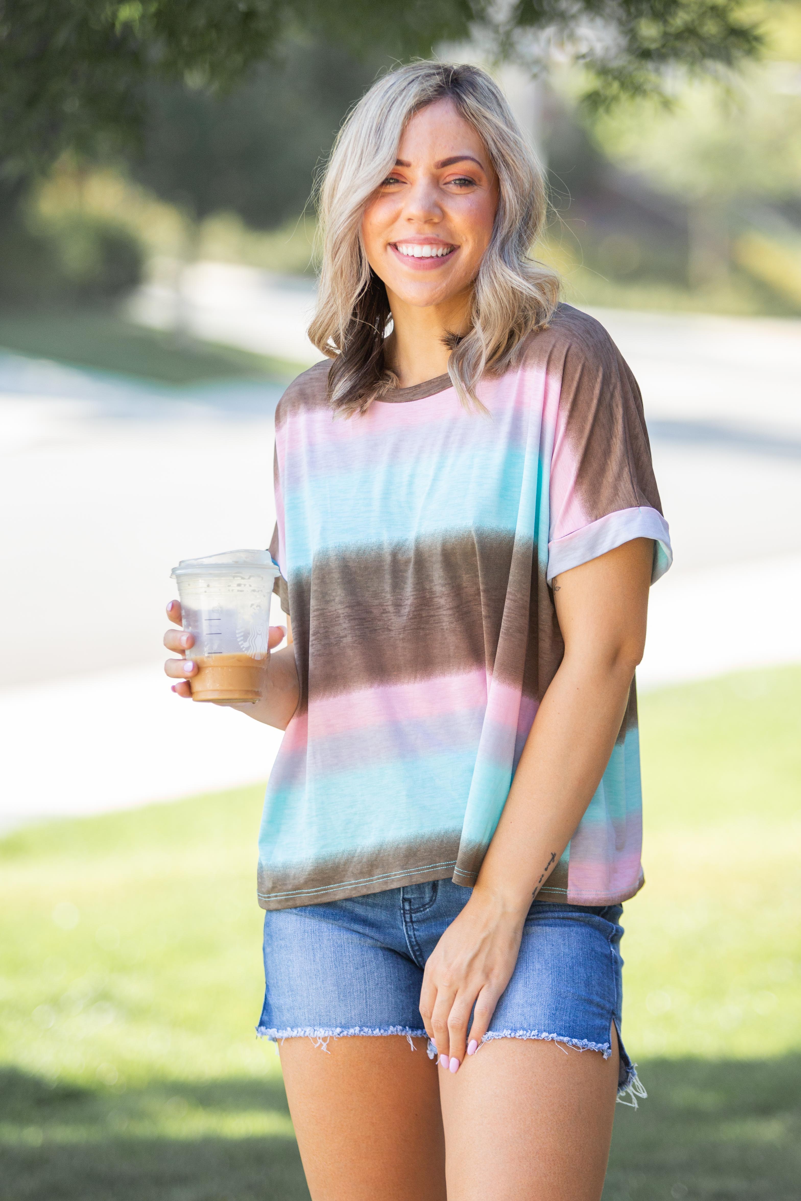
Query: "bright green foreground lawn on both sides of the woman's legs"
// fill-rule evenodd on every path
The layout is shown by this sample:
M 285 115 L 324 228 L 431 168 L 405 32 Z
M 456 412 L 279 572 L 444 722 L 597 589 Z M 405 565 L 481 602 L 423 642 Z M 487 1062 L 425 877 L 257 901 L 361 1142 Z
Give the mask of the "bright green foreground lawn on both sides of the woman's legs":
M 801 668 L 641 701 L 647 888 L 626 908 L 605 1201 L 801 1195 Z M 261 789 L 0 842 L 4 1201 L 307 1197 L 257 1042 Z M 491 1201 L 491 1199 L 488 1199 Z

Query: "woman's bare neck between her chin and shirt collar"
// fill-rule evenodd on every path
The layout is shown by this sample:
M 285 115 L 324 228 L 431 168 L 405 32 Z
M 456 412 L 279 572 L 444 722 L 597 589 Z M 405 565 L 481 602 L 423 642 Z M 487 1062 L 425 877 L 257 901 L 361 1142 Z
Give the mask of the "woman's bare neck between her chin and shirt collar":
M 470 328 L 472 293 L 444 304 L 420 307 L 401 300 L 387 289 L 393 315 L 393 331 L 387 339 L 387 364 L 401 388 L 435 380 L 448 370 L 448 334 L 465 334 Z

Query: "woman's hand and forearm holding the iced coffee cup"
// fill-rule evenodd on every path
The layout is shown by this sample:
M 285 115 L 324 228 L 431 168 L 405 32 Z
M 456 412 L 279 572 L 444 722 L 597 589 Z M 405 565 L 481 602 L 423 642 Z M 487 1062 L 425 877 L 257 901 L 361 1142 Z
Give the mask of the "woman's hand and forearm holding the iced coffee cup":
M 171 600 L 167 605 L 167 616 L 177 626 L 181 625 L 181 607 L 178 600 Z M 228 705 L 228 709 L 238 709 L 240 713 L 264 722 L 265 725 L 274 725 L 279 730 L 286 730 L 294 716 L 300 699 L 300 687 L 298 683 L 298 669 L 294 659 L 294 646 L 292 645 L 292 626 L 287 617 L 287 645 L 280 651 L 273 651 L 274 646 L 283 641 L 285 629 L 282 626 L 270 626 L 268 635 L 269 655 L 264 659 L 262 676 L 262 699 L 255 705 Z M 180 659 L 167 659 L 165 673 L 171 680 L 175 680 L 173 692 L 178 697 L 191 697 L 192 689 L 189 681 L 197 675 L 197 665 L 192 662 L 191 651 L 195 638 L 185 629 L 168 629 L 165 634 L 165 646 L 168 651 L 183 656 Z M 216 701 L 215 704 L 225 704 Z

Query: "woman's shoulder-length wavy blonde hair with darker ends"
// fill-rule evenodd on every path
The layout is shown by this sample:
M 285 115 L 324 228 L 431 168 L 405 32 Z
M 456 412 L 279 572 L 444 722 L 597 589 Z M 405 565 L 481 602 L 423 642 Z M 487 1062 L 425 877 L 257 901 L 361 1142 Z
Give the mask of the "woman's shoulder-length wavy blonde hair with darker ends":
M 476 129 L 500 191 L 495 228 L 473 285 L 470 330 L 448 339 L 448 375 L 467 408 L 484 408 L 478 381 L 514 365 L 522 339 L 548 324 L 558 301 L 558 276 L 530 257 L 545 217 L 543 174 L 498 85 L 470 65 L 397 67 L 347 116 L 318 191 L 322 270 L 309 337 L 334 360 L 328 395 L 345 416 L 365 412 L 397 387 L 384 360 L 391 319 L 387 289 L 367 263 L 361 219 L 395 163 L 407 121 L 437 100 L 450 100 Z

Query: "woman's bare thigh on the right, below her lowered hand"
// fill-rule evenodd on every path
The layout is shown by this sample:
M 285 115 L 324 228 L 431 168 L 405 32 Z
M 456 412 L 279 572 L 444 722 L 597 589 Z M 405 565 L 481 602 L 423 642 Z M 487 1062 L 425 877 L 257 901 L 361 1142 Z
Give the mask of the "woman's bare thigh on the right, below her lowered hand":
M 498 1039 L 441 1072 L 448 1201 L 598 1201 L 617 1094 L 612 1054 Z

